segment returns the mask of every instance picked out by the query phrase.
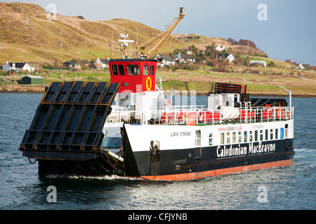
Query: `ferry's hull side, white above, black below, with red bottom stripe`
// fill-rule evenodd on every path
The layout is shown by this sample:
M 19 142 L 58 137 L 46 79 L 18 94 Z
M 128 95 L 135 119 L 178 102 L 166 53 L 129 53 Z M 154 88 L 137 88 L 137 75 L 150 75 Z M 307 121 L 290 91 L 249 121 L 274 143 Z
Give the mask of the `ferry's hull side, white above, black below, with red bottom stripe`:
M 265 127 L 265 125 L 268 126 Z M 285 125 L 287 125 L 286 127 L 293 127 L 291 121 L 289 121 L 289 123 L 275 122 L 265 125 L 262 125 L 261 129 L 269 130 L 269 135 L 270 130 L 272 130 L 271 127 L 273 127 L 273 132 L 275 132 L 275 127 L 278 127 L 276 129 L 278 132 L 280 132 Z M 196 142 L 194 133 L 197 132 L 197 130 L 202 133 L 201 139 L 205 139 L 205 136 L 210 132 L 213 133 L 213 136 L 216 136 L 216 134 L 220 136 L 220 133 L 214 133 L 218 130 L 218 127 L 156 126 L 155 132 L 152 132 L 153 130 L 150 129 L 142 132 L 140 126 L 136 127 L 131 125 L 124 129 L 124 132 L 126 132 L 124 150 L 133 151 L 135 160 L 133 167 L 134 169 L 137 167 L 134 173 L 137 173 L 138 176 L 143 179 L 154 181 L 201 179 L 207 176 L 289 166 L 294 163 L 294 138 L 291 137 L 292 130 L 290 129 L 287 130 L 287 138 L 279 136 L 278 138 L 265 141 L 263 135 L 263 141 L 260 141 L 261 132 L 257 130 L 258 141 L 250 142 L 248 139 L 246 143 L 213 144 L 212 146 L 203 146 L 203 143 L 201 143 L 199 146 L 194 146 L 195 144 L 193 144 L 193 147 L 188 147 L 190 146 L 189 142 Z M 226 127 L 228 127 L 228 125 L 226 125 Z M 155 127 L 153 127 L 153 129 L 154 128 Z M 237 129 L 242 130 L 242 133 L 249 133 L 250 130 L 252 130 L 251 133 L 255 133 L 255 130 L 251 129 L 251 125 L 235 125 L 235 127 L 232 127 L 232 130 Z M 223 130 L 229 129 L 224 128 Z M 133 141 L 133 139 L 130 141 L 129 133 L 133 136 L 133 139 L 135 133 L 140 136 L 143 135 L 141 139 L 143 143 L 147 142 L 148 150 L 142 151 L 144 147 L 142 144 Z M 152 137 L 150 134 L 145 133 L 157 133 L 157 135 Z M 181 139 L 180 134 L 177 136 L 175 133 L 186 133 L 186 136 Z M 159 142 L 159 151 L 156 153 L 152 153 L 150 139 Z M 206 141 L 207 140 L 209 139 L 206 139 Z M 177 145 L 179 146 L 178 148 L 176 148 Z M 169 148 L 169 146 L 173 148 Z

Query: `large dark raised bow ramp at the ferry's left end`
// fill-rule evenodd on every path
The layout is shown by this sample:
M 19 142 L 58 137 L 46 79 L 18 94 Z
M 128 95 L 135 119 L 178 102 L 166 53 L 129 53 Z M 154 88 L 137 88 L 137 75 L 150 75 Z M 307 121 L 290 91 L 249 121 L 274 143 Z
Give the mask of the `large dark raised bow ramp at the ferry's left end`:
M 119 172 L 101 153 L 103 126 L 119 85 L 84 81 L 51 84 L 19 148 L 25 157 L 39 161 L 39 174 Z

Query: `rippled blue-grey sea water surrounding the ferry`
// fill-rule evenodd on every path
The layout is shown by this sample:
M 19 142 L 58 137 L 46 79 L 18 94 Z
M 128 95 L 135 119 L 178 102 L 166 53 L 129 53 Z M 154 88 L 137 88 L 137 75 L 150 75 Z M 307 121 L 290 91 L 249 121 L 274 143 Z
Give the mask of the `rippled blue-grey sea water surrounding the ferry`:
M 31 164 L 18 148 L 41 97 L 0 94 L 1 210 L 316 209 L 316 99 L 292 100 L 294 165 L 194 181 L 144 181 L 119 176 L 40 177 L 37 163 Z M 207 102 L 206 97 L 198 100 Z

